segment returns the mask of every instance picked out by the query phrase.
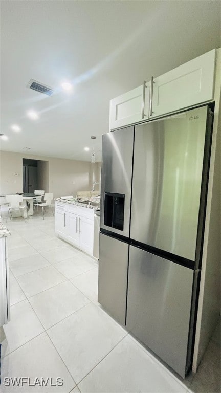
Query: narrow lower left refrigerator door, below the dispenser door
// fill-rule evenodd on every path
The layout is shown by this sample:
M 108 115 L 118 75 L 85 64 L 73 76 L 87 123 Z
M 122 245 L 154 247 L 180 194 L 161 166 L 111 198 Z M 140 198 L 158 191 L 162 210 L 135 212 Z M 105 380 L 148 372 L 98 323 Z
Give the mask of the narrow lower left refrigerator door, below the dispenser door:
M 125 325 L 129 245 L 100 233 L 98 301 Z

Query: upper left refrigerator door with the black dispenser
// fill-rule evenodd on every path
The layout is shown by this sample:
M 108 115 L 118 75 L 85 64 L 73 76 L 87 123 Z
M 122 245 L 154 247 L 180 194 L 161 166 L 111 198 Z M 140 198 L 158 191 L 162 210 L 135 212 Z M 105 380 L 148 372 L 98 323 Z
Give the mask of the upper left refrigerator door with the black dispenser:
M 134 126 L 103 135 L 101 229 L 129 236 Z

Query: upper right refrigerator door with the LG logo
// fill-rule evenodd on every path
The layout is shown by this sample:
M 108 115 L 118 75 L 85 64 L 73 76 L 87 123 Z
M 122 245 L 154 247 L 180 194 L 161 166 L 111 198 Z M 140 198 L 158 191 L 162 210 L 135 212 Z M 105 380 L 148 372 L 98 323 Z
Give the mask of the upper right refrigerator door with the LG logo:
M 207 113 L 203 106 L 135 127 L 130 237 L 191 261 L 209 167 Z

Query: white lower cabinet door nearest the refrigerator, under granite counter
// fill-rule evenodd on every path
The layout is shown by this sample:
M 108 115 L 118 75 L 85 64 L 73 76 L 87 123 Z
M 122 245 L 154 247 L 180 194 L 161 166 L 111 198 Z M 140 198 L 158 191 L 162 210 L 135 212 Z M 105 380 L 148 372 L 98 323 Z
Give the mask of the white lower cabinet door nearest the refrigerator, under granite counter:
M 79 217 L 79 247 L 85 252 L 93 255 L 94 246 L 94 220 Z

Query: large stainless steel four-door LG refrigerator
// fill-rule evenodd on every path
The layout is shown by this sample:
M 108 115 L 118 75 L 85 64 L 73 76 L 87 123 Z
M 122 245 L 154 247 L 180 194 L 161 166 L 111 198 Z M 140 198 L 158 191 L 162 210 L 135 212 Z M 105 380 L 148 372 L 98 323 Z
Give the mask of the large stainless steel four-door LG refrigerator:
M 192 361 L 208 105 L 103 136 L 98 301 L 183 378 Z

